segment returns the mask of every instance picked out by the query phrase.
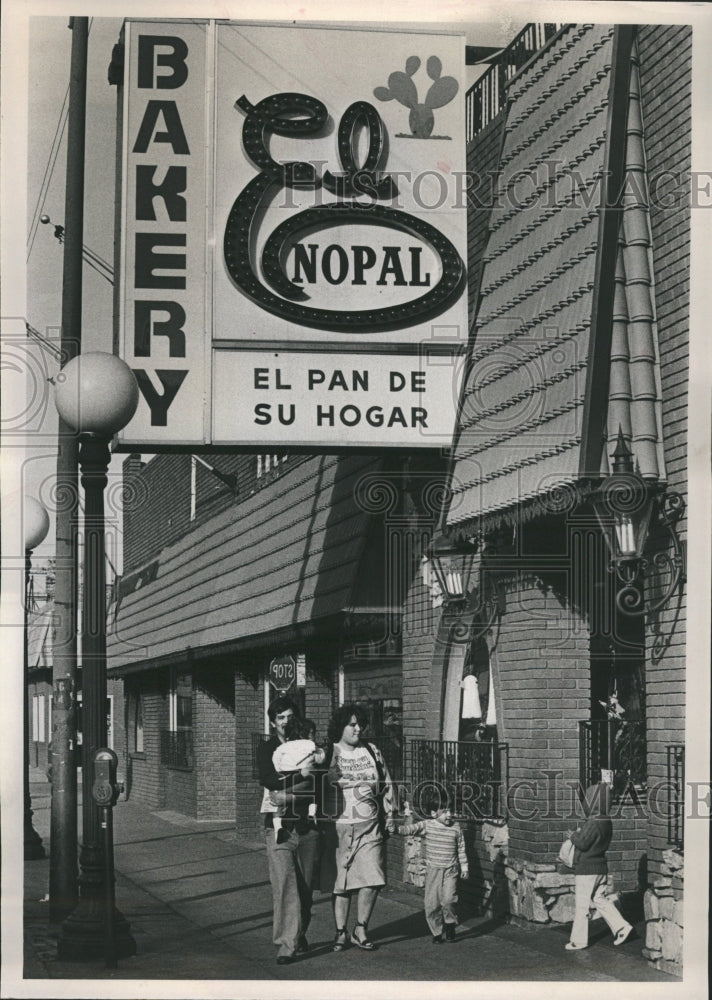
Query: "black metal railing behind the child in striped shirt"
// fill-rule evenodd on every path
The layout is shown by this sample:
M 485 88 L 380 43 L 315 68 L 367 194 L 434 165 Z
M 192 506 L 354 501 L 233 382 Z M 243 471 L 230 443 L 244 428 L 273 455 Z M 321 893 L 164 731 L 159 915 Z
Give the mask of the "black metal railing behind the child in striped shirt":
M 427 784 L 443 786 L 463 819 L 501 819 L 507 785 L 508 744 L 408 740 L 405 779 L 414 797 Z

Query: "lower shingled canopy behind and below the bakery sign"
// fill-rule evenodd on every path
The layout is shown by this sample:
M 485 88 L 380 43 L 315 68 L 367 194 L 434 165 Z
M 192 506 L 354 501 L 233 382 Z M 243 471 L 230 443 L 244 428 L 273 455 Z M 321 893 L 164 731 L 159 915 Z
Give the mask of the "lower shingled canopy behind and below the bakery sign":
M 109 616 L 112 672 L 304 635 L 353 611 L 372 518 L 362 493 L 378 468 L 363 455 L 309 458 L 124 577 Z

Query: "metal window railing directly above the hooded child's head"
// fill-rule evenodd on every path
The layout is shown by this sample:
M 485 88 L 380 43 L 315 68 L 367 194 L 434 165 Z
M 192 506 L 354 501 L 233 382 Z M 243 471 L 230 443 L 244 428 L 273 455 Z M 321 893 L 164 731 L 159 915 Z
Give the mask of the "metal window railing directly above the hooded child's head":
M 579 722 L 579 777 L 584 787 L 601 780 L 601 770 L 613 771 L 613 791 L 624 794 L 632 785 L 647 786 L 647 744 L 644 722 L 589 719 Z

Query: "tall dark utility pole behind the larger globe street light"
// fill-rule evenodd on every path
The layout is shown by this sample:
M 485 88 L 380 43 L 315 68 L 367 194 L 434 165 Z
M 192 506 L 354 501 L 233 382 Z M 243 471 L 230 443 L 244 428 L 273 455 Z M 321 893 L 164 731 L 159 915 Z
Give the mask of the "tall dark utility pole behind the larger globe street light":
M 62 278 L 62 364 L 81 350 L 84 136 L 89 19 L 73 17 L 67 120 L 67 181 Z M 77 865 L 77 512 L 78 442 L 60 418 L 57 450 L 57 533 L 52 664 L 52 805 L 50 920 L 66 917 L 78 901 Z

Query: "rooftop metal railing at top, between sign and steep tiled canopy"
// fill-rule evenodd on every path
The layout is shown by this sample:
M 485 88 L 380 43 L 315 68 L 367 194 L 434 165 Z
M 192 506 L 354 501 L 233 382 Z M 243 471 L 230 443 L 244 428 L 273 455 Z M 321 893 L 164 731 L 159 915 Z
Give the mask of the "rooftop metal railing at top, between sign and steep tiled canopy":
M 563 24 L 527 24 L 465 95 L 466 136 L 470 142 L 497 117 L 507 101 L 507 83 Z

